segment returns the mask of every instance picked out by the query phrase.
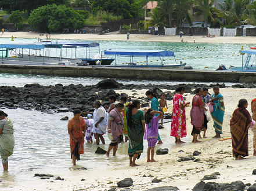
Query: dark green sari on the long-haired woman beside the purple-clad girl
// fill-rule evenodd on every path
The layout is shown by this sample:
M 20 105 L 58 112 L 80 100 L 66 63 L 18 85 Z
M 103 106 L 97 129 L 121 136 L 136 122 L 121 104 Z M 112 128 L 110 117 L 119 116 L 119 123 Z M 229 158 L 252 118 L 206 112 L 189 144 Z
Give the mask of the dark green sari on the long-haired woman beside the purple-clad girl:
M 127 119 L 129 112 L 127 111 Z M 131 127 L 127 124 L 128 129 L 128 139 L 129 139 L 129 148 L 128 153 L 129 156 L 134 156 L 138 154 L 138 158 L 143 152 L 143 137 L 144 137 L 144 129 L 142 126 L 142 122 L 144 122 L 144 115 L 142 111 L 138 111 L 135 115 L 132 115 L 132 125 Z

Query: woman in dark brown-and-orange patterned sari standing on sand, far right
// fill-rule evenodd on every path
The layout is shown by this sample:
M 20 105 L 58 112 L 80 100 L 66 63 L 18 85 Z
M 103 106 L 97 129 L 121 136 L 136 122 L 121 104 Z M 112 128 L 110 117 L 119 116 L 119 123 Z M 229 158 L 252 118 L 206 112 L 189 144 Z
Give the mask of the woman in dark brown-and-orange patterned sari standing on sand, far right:
M 247 111 L 246 99 L 239 100 L 238 108 L 230 119 L 230 132 L 232 136 L 233 157 L 236 160 L 248 156 L 248 129 L 252 124 L 251 115 Z

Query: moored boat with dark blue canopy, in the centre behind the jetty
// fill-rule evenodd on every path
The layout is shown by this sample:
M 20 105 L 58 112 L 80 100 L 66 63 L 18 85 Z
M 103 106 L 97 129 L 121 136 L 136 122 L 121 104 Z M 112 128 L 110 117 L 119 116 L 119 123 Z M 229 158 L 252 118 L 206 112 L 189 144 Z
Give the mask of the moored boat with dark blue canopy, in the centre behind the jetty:
M 175 54 L 167 50 L 130 50 L 130 49 L 112 49 L 102 51 L 102 55 L 114 56 L 114 67 L 135 67 L 135 68 L 175 68 L 184 69 L 186 63 L 182 61 L 177 64 Z M 129 63 L 118 65 L 120 58 L 128 57 Z M 155 59 L 154 61 L 153 58 Z M 174 64 L 168 64 L 167 61 L 175 61 Z M 156 60 L 157 59 L 157 60 Z M 157 63 L 157 64 L 149 64 Z

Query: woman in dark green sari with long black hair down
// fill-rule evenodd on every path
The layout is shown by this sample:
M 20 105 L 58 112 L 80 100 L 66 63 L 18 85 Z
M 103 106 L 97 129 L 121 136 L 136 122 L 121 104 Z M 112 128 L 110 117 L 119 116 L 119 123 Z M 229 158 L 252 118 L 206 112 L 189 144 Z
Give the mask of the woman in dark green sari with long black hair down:
M 129 104 L 127 111 L 127 130 L 129 139 L 129 166 L 135 167 L 136 159 L 139 159 L 141 153 L 143 152 L 143 138 L 145 131 L 145 120 L 144 114 L 139 110 L 140 102 L 134 100 L 132 104 Z

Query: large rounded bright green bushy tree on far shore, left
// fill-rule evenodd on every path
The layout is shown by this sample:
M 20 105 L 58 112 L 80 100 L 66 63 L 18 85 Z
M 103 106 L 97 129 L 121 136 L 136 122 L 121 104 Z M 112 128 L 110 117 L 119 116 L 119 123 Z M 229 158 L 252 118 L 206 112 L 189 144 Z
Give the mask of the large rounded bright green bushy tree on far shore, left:
M 84 25 L 84 16 L 65 5 L 45 5 L 33 10 L 28 23 L 38 31 L 59 32 L 63 28 L 77 29 Z

